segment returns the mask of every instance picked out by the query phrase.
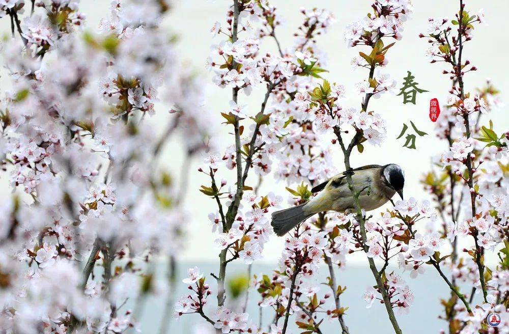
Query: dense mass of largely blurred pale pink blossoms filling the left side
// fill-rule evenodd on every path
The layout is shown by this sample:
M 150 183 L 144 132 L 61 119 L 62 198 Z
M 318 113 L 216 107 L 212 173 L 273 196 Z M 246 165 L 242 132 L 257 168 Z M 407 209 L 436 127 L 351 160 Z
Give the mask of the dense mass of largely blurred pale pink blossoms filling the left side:
M 202 85 L 158 29 L 164 2 L 113 1 L 99 32 L 77 1 L 33 3 L 0 9 L 19 34 L 3 45 L 0 326 L 121 333 L 138 327 L 126 300 L 163 291 L 142 264 L 182 247 L 185 210 L 155 165 L 173 130 L 196 128 L 188 152 L 213 144 Z M 158 97 L 178 109 L 162 140 L 142 122 Z

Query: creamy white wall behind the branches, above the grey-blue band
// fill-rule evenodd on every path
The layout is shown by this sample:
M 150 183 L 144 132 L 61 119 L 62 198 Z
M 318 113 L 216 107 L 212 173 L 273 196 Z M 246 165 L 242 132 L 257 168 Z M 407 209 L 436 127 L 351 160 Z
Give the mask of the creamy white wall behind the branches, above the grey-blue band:
M 329 72 L 324 77 L 329 81 L 340 82 L 345 85 L 349 92 L 353 84 L 367 76 L 363 70 L 353 71 L 350 66 L 350 60 L 358 54 L 359 48 L 347 48 L 343 40 L 343 31 L 345 25 L 354 19 L 358 19 L 365 15 L 369 10 L 371 1 L 283 1 L 273 0 L 272 4 L 277 6 L 277 12 L 284 17 L 285 24 L 278 27 L 277 36 L 282 47 L 290 46 L 293 43 L 292 33 L 296 27 L 300 25 L 303 15 L 299 12 L 299 7 L 318 7 L 327 8 L 336 17 L 337 22 L 332 25 L 327 34 L 319 38 L 319 44 L 328 54 Z M 433 136 L 434 124 L 428 118 L 429 100 L 438 98 L 443 101 L 447 96 L 449 80 L 446 76 L 440 74 L 443 69 L 442 65 L 429 64 L 426 60 L 424 52 L 428 47 L 426 39 L 419 39 L 420 32 L 426 32 L 427 19 L 429 16 L 453 17 L 457 11 L 457 1 L 428 0 L 416 1 L 414 4 L 415 11 L 410 21 L 405 24 L 405 32 L 402 41 L 399 41 L 388 54 L 389 65 L 387 71 L 394 78 L 401 82 L 406 76 L 407 70 L 411 71 L 415 76 L 415 80 L 419 82 L 419 86 L 430 91 L 417 96 L 417 104 L 402 103 L 401 96 L 392 96 L 385 94 L 381 99 L 372 99 L 370 102 L 370 110 L 376 110 L 383 114 L 388 121 L 389 137 L 383 144 L 382 148 L 367 146 L 362 155 L 354 154 L 352 156 L 352 165 L 362 165 L 367 163 L 385 164 L 389 162 L 398 163 L 403 166 L 406 172 L 406 189 L 407 197 L 415 196 L 416 198 L 426 198 L 427 195 L 422 191 L 419 179 L 424 171 L 428 170 L 431 163 L 431 155 L 445 149 L 443 143 L 439 143 Z M 218 115 L 217 124 L 215 126 L 221 130 L 217 135 L 220 143 L 224 146 L 233 143 L 232 136 L 229 135 L 224 126 L 219 125 L 221 118 L 219 112 L 228 107 L 231 99 L 231 90 L 219 89 L 212 85 L 210 75 L 205 70 L 205 59 L 209 53 L 209 47 L 212 43 L 218 43 L 219 38 L 211 39 L 209 29 L 218 20 L 224 21 L 225 13 L 231 1 L 217 0 L 215 2 L 205 0 L 188 0 L 177 1 L 171 14 L 163 23 L 164 29 L 168 33 L 175 33 L 179 37 L 178 45 L 181 50 L 182 57 L 187 59 L 187 66 L 208 76 L 207 82 L 210 82 L 209 98 L 207 105 L 213 113 Z M 477 72 L 468 73 L 465 79 L 465 88 L 467 91 L 473 91 L 474 87 L 484 84 L 484 80 L 490 77 L 497 88 L 502 92 L 502 98 L 505 92 L 509 91 L 509 81 L 506 78 L 506 70 L 503 63 L 507 57 L 507 38 L 506 38 L 506 17 L 505 13 L 509 12 L 509 2 L 498 1 L 479 1 L 471 0 L 467 2 L 467 9 L 477 12 L 479 8 L 484 8 L 488 18 L 489 25 L 479 25 L 473 34 L 473 41 L 469 42 L 465 47 L 465 58 L 470 60 L 478 67 Z M 81 11 L 86 14 L 89 29 L 95 29 L 101 17 L 107 15 L 109 1 L 107 0 L 82 0 L 80 4 Z M 10 33 L 8 18 L 0 20 L 0 33 L 2 35 Z M 266 51 L 274 52 L 275 44 L 272 40 L 265 43 Z M 0 72 L 0 90 L 5 90 L 6 73 Z M 249 105 L 249 111 L 256 113 L 260 101 L 263 97 L 263 90 L 254 91 L 251 96 L 246 97 L 240 95 L 239 99 L 242 103 Z M 350 94 L 350 106 L 357 106 L 360 99 Z M 162 106 L 158 110 L 158 115 L 154 117 L 153 122 L 166 118 L 167 107 Z M 505 109 L 491 115 L 495 121 L 498 130 L 507 128 L 509 121 L 506 117 Z M 410 150 L 401 148 L 404 141 L 396 140 L 395 137 L 401 131 L 403 123 L 410 124 L 412 120 L 417 127 L 425 132 L 430 133 L 426 137 L 417 138 L 418 150 Z M 161 122 L 162 124 L 162 122 Z M 160 127 L 162 130 L 162 127 Z M 331 137 L 324 137 L 324 141 L 330 142 Z M 337 152 L 335 160 L 338 169 L 343 166 L 342 156 Z M 180 164 L 183 159 L 182 146 L 179 141 L 172 141 L 165 148 L 165 154 L 162 163 L 169 169 L 175 171 L 178 177 Z M 189 221 L 183 224 L 189 225 L 190 234 L 188 235 L 187 248 L 183 250 L 182 260 L 215 260 L 217 250 L 213 245 L 213 238 L 209 233 L 209 223 L 207 214 L 215 211 L 215 202 L 211 201 L 200 193 L 197 189 L 202 184 L 207 184 L 202 173 L 195 172 L 197 167 L 202 163 L 202 159 L 195 159 L 191 163 L 191 174 L 189 182 L 189 190 L 185 199 L 186 206 L 192 212 Z M 234 180 L 232 173 L 226 172 L 224 178 Z M 253 180 L 251 183 L 254 183 Z M 249 180 L 248 180 L 249 184 Z M 273 182 L 268 177 L 264 182 L 261 193 L 274 191 L 277 194 L 286 196 L 285 184 Z M 2 197 L 9 196 L 7 188 L 7 180 L 0 179 L 0 189 L 2 189 Z M 275 237 L 271 240 L 265 250 L 265 261 L 274 263 L 280 254 L 282 241 Z M 354 258 L 354 261 L 364 261 L 363 256 Z

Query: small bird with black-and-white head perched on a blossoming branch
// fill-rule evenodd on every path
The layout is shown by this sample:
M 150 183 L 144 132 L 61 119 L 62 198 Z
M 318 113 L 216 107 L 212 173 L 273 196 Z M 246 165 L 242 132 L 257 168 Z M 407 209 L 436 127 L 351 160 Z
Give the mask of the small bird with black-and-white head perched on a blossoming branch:
M 348 187 L 347 174 L 352 176 L 354 191 L 359 191 L 361 209 L 371 211 L 387 203 L 395 193 L 403 200 L 405 172 L 395 164 L 370 164 L 337 174 L 313 187 L 313 193 L 319 192 L 312 200 L 272 213 L 271 225 L 277 236 L 283 236 L 307 218 L 318 212 L 355 211 L 354 198 Z

